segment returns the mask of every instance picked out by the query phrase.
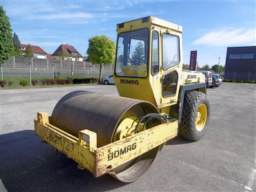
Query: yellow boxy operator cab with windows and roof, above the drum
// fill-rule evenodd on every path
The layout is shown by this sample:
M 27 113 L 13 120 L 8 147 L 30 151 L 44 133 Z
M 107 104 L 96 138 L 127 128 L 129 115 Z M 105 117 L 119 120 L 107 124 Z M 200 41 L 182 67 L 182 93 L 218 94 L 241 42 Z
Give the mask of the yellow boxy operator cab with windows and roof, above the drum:
M 156 17 L 117 25 L 115 83 L 120 96 L 157 108 L 177 103 L 182 27 Z

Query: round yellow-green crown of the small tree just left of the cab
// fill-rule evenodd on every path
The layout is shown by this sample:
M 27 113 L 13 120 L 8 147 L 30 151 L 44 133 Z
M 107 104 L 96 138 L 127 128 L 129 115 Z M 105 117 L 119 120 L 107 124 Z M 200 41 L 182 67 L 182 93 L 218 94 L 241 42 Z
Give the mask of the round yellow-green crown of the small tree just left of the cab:
M 93 64 L 110 64 L 114 62 L 115 44 L 106 35 L 93 36 L 88 42 L 88 61 Z

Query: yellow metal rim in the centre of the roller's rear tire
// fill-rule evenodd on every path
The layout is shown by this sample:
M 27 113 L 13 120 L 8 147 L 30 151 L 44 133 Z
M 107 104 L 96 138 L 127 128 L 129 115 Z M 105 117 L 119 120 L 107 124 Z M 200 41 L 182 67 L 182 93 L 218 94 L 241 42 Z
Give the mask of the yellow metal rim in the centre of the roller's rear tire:
M 196 111 L 195 124 L 198 131 L 204 129 L 207 120 L 207 107 L 205 104 L 200 104 Z

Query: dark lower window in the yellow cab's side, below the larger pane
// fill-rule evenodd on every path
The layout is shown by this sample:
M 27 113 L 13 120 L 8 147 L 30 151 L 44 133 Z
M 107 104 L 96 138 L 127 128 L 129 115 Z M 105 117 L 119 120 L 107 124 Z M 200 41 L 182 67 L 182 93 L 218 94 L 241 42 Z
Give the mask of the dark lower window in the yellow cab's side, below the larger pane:
M 176 71 L 163 76 L 163 97 L 170 97 L 176 94 L 178 77 Z

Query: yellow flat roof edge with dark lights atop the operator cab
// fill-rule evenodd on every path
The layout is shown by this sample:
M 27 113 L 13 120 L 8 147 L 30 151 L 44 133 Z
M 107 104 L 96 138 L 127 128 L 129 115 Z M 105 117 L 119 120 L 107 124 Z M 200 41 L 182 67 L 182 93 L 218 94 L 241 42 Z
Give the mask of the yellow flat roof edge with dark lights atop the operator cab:
M 127 26 L 131 26 L 133 24 L 138 24 L 138 22 L 141 24 L 153 24 L 156 26 L 160 26 L 160 27 L 164 27 L 164 28 L 168 28 L 168 29 L 173 29 L 175 31 L 179 31 L 180 33 L 182 33 L 182 26 L 179 26 L 177 24 L 174 24 L 172 22 L 168 22 L 166 20 L 163 19 L 159 19 L 157 17 L 154 16 L 148 16 L 148 17 L 143 17 L 140 19 L 135 19 L 135 20 L 129 20 L 127 22 L 122 22 L 120 24 L 117 24 L 116 26 L 116 30 L 127 27 Z

